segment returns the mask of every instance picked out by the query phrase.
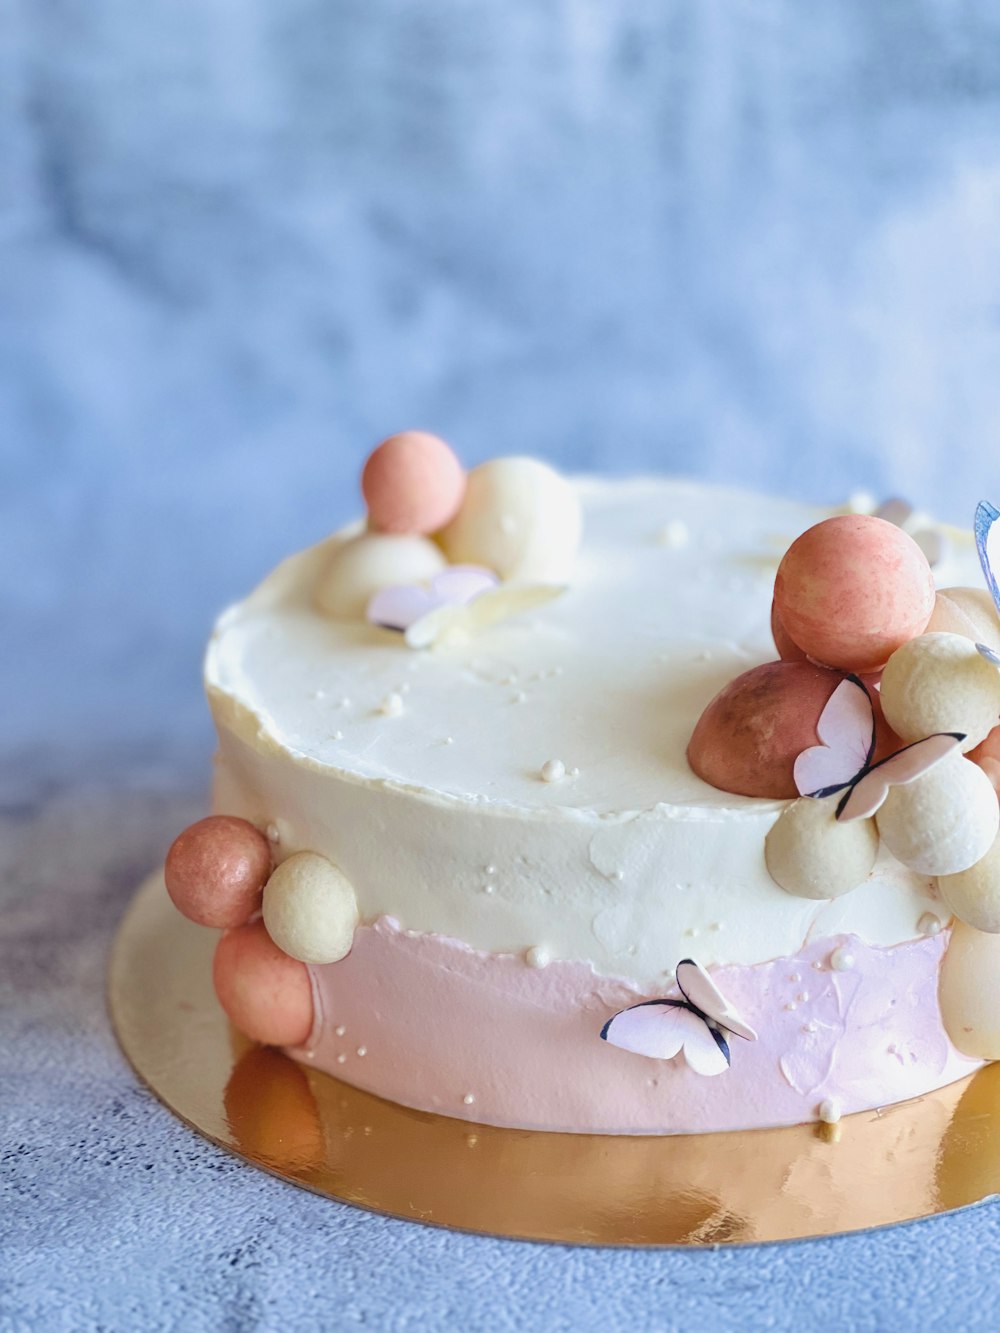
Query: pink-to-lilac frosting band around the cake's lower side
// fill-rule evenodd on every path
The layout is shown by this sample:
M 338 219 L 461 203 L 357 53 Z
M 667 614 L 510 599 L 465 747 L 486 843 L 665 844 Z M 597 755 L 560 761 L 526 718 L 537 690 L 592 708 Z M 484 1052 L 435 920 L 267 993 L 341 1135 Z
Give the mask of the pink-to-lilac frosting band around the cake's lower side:
M 340 962 L 311 968 L 315 1068 L 391 1101 L 489 1125 L 579 1133 L 684 1134 L 815 1120 L 931 1092 L 979 1068 L 941 1025 L 937 972 L 948 932 L 888 949 L 852 936 L 793 958 L 712 977 L 759 1033 L 729 1040 L 717 1077 L 683 1056 L 649 1060 L 601 1041 L 639 993 L 579 962 L 529 966 L 389 917 L 361 926 Z M 831 965 L 843 946 L 847 970 Z

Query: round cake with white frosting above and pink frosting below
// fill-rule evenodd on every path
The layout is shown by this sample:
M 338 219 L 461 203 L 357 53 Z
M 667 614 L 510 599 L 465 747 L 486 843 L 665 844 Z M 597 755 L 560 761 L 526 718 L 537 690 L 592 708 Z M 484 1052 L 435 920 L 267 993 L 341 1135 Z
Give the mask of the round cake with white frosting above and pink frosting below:
M 835 1117 L 975 1070 L 940 1014 L 949 913 L 881 850 L 835 901 L 784 892 L 785 802 L 701 781 L 709 700 L 775 649 L 783 552 L 833 511 L 669 480 L 580 480 L 556 600 L 427 651 L 316 603 L 337 535 L 212 637 L 215 805 L 353 886 L 351 952 L 311 965 L 297 1058 L 497 1125 L 697 1133 Z M 951 533 L 940 584 L 976 583 Z M 692 958 L 756 1032 L 705 1077 L 601 1040 Z

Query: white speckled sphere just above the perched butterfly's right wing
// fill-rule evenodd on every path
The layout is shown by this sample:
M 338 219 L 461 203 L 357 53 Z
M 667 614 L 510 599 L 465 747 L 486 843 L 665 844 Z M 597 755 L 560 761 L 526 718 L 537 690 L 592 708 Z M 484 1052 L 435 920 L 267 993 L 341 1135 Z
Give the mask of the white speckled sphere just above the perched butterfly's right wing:
M 1000 718 L 1000 670 L 961 635 L 920 635 L 885 664 L 881 709 L 904 741 L 964 732 L 971 750 Z

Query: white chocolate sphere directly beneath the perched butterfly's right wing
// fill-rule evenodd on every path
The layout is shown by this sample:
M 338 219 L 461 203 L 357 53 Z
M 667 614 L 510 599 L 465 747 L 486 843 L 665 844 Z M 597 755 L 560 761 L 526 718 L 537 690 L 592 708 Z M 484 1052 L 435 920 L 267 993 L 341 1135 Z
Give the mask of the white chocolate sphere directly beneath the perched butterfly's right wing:
M 875 816 L 887 848 L 917 874 L 959 874 L 981 860 L 1000 826 L 993 784 L 955 753 L 915 782 L 889 788 Z

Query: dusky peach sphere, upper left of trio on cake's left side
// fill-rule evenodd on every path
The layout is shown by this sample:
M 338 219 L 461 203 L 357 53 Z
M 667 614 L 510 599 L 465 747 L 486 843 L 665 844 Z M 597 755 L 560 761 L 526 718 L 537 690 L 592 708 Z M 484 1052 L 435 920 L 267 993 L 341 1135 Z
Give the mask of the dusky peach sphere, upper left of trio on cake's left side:
M 269 874 L 268 840 L 231 814 L 211 814 L 184 829 L 164 865 L 177 910 L 223 930 L 253 916 Z

